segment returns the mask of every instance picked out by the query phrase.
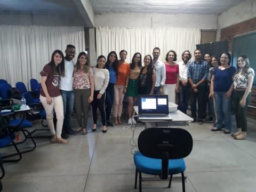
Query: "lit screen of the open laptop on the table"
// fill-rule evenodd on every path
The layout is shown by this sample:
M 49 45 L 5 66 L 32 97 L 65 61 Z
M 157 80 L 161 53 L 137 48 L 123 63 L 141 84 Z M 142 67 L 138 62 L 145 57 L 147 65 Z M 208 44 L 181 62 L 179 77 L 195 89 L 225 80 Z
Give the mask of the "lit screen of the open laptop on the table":
M 169 114 L 168 95 L 139 95 L 139 114 Z

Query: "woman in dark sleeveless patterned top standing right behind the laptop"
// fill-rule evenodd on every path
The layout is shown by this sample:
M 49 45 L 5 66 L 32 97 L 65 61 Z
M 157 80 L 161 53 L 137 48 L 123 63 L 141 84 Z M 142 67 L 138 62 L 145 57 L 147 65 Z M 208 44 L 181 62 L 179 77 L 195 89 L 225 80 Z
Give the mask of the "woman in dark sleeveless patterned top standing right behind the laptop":
M 144 58 L 144 67 L 140 69 L 139 94 L 153 94 L 156 84 L 156 70 L 153 68 L 151 55 Z

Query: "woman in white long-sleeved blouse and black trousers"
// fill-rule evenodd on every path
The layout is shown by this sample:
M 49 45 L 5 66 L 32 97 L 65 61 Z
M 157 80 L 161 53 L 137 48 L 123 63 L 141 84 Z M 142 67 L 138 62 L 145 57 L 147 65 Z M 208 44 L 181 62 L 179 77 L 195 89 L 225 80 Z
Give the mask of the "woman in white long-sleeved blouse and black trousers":
M 92 101 L 92 117 L 93 117 L 93 129 L 97 128 L 97 108 L 99 107 L 102 123 L 102 132 L 107 132 L 106 126 L 106 111 L 105 111 L 105 99 L 106 88 L 109 82 L 109 71 L 105 69 L 106 58 L 100 55 L 97 59 L 97 65 L 93 68 L 94 74 L 94 94 Z

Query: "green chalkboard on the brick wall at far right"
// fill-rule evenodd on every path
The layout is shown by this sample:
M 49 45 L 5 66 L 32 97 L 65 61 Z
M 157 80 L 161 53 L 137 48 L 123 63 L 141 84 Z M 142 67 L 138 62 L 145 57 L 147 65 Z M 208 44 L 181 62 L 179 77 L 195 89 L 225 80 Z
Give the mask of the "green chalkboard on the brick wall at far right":
M 233 66 L 237 67 L 237 57 L 246 55 L 250 60 L 251 68 L 256 71 L 256 31 L 239 35 L 233 39 Z M 254 78 L 253 84 L 256 85 Z

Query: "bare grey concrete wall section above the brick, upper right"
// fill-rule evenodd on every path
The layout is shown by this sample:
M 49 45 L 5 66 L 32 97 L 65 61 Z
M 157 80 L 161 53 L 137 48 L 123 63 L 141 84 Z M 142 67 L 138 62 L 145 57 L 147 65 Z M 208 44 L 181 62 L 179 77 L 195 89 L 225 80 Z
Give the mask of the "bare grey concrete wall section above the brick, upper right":
M 255 17 L 256 0 L 247 0 L 221 13 L 218 17 L 217 41 L 220 41 L 221 29 Z

